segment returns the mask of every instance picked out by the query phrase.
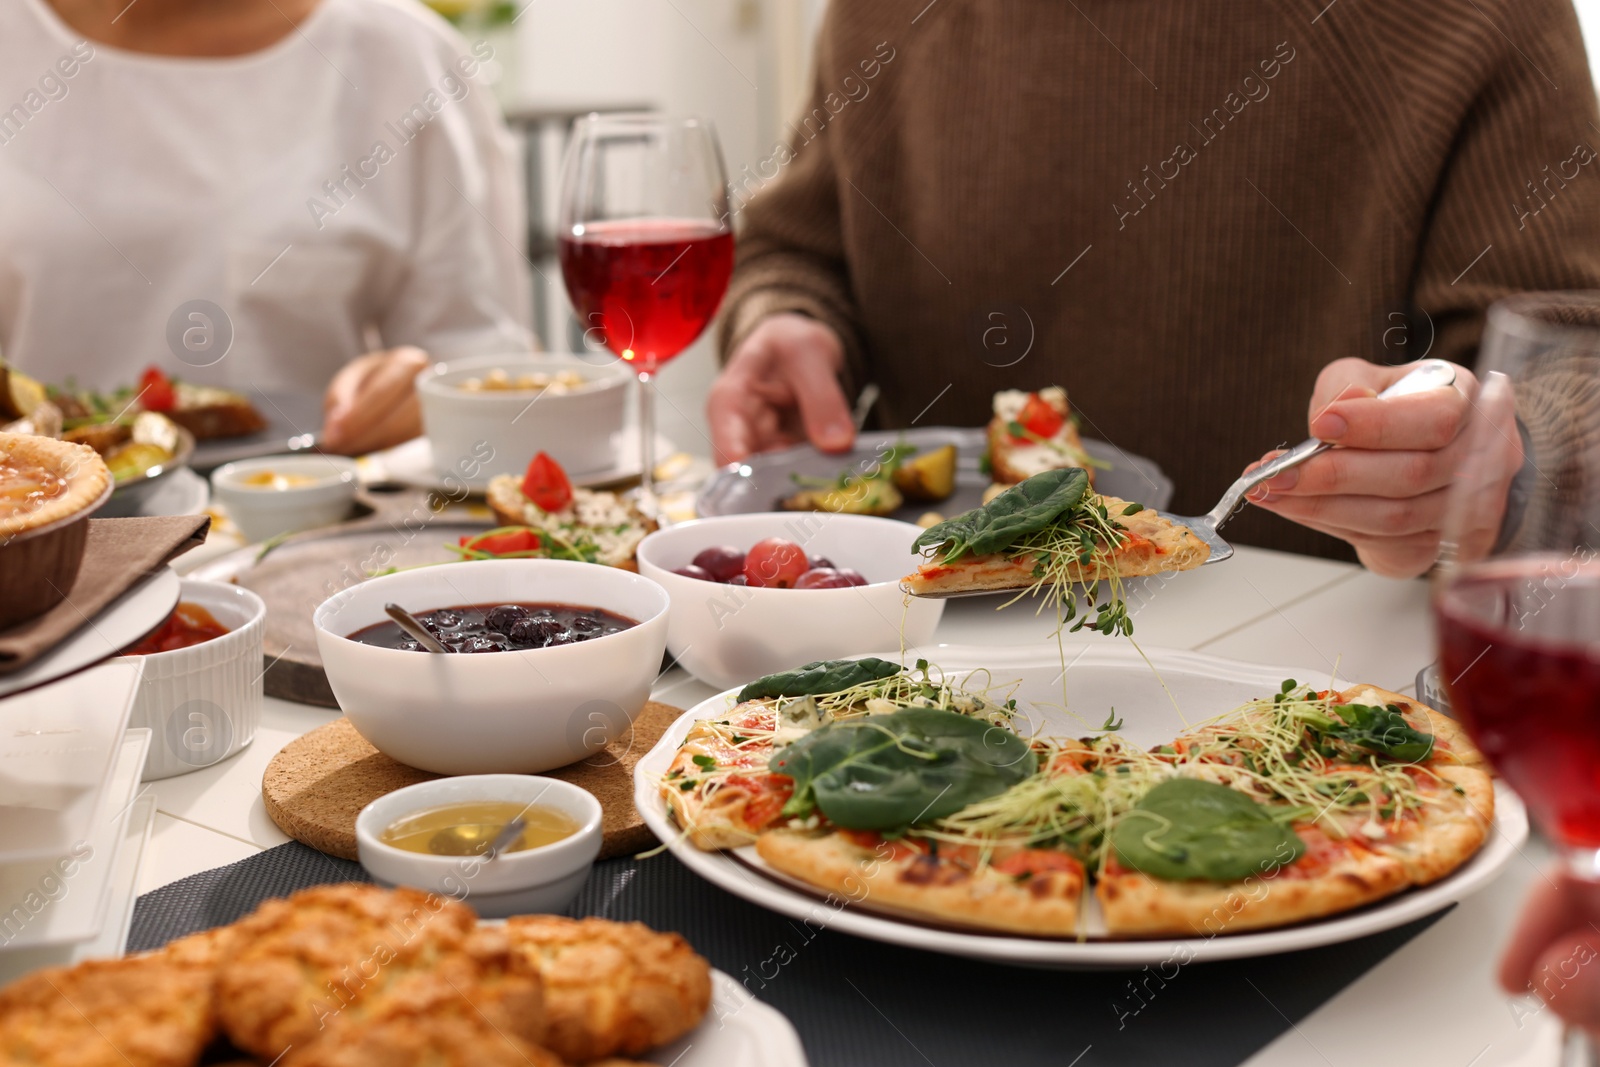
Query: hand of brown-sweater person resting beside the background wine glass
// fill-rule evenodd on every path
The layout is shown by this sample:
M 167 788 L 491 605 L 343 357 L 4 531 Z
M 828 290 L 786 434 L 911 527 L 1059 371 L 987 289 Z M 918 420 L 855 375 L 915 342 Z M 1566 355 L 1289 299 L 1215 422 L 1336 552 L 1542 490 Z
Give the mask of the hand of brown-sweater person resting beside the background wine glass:
M 826 453 L 856 442 L 850 403 L 838 387 L 845 346 L 814 318 L 768 315 L 750 331 L 706 402 L 718 462 L 810 440 Z

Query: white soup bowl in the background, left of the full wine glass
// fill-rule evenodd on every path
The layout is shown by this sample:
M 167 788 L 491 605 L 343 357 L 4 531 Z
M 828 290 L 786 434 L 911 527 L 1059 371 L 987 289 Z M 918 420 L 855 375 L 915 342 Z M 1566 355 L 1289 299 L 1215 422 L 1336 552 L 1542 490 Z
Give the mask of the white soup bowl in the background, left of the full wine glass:
M 496 370 L 510 378 L 573 371 L 584 386 L 571 392 L 464 389 L 469 379 Z M 541 451 L 573 475 L 610 467 L 611 437 L 622 429 L 632 378 L 621 362 L 571 355 L 475 355 L 435 363 L 416 378 L 434 470 L 483 490 L 496 474 L 520 472 Z

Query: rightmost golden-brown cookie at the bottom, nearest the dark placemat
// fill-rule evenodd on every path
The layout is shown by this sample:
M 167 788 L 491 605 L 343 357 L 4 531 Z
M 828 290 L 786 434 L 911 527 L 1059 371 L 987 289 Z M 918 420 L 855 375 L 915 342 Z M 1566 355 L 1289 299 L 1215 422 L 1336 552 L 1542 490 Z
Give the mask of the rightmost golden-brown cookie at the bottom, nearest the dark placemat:
M 710 1006 L 710 965 L 678 934 L 555 915 L 509 918 L 506 933 L 544 977 L 544 1045 L 570 1062 L 666 1045 Z

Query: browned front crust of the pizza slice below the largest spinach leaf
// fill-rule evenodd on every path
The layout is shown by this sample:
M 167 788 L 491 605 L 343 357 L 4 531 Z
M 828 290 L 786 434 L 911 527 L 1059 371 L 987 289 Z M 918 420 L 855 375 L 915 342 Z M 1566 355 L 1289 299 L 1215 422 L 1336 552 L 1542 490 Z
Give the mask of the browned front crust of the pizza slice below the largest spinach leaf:
M 755 851 L 787 875 L 875 909 L 1034 937 L 1078 931 L 1082 867 L 1018 880 L 890 841 L 867 848 L 837 830 L 771 830 L 755 841 Z

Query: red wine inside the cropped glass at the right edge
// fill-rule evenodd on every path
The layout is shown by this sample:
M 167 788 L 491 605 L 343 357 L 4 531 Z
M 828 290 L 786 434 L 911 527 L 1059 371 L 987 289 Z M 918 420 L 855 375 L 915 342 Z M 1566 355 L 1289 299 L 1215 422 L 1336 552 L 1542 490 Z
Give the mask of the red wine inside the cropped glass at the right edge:
M 1435 617 L 1450 707 L 1478 749 L 1547 833 L 1600 848 L 1600 565 L 1480 565 Z

